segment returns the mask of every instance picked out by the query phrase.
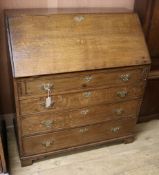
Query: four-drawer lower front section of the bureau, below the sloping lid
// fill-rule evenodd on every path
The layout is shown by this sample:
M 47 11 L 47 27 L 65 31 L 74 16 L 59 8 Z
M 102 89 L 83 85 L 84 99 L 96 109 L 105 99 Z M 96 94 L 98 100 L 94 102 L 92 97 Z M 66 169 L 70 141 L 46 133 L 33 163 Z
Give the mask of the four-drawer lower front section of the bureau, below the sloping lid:
M 133 139 L 148 70 L 138 66 L 17 79 L 22 155 L 35 158 Z M 46 87 L 52 100 L 47 108 Z

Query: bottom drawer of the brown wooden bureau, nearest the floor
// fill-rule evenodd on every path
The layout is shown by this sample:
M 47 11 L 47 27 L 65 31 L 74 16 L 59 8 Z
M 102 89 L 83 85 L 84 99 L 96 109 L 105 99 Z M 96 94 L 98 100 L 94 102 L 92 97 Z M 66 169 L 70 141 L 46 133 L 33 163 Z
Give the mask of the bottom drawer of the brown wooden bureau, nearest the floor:
M 23 139 L 24 155 L 34 155 L 133 133 L 136 119 L 120 119 Z

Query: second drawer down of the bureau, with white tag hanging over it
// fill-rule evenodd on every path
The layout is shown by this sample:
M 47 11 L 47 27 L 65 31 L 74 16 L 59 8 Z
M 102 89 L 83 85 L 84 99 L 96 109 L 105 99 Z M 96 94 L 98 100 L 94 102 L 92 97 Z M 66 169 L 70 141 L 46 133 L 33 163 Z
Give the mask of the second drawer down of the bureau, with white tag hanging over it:
M 61 94 L 51 96 L 52 105 L 45 107 L 47 97 L 21 100 L 20 114 L 26 115 L 31 113 L 61 111 L 68 109 L 77 109 L 91 105 L 103 103 L 114 103 L 132 98 L 140 98 L 143 95 L 143 83 L 133 86 L 121 86 L 115 88 L 97 89 L 83 91 L 78 93 Z

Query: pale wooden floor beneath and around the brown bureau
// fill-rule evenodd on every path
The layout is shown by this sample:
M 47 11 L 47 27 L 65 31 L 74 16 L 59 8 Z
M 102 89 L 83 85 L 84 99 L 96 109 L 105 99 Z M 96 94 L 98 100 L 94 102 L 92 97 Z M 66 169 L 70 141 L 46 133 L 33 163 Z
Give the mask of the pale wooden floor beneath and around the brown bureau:
M 159 120 L 138 124 L 131 144 L 49 157 L 21 167 L 13 128 L 8 129 L 11 175 L 159 175 Z

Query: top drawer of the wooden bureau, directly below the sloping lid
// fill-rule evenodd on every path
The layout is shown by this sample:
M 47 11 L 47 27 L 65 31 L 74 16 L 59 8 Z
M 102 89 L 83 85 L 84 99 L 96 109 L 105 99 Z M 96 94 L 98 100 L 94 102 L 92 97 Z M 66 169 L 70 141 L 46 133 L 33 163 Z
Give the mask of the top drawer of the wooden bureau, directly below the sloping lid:
M 24 78 L 17 81 L 18 94 L 19 97 L 31 97 L 45 95 L 48 89 L 53 94 L 59 94 L 100 86 L 127 85 L 142 81 L 144 79 L 143 70 L 141 67 L 123 68 Z

